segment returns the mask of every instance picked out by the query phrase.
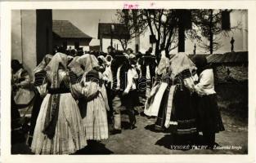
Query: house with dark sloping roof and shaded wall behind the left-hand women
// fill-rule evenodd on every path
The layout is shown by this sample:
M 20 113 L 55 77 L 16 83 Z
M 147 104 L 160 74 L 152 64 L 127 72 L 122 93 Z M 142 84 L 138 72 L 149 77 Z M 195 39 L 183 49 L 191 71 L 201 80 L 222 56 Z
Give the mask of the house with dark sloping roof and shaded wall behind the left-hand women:
M 83 47 L 84 51 L 89 51 L 89 43 L 92 41 L 92 37 L 69 20 L 52 20 L 52 38 L 54 46 L 64 46 L 66 49 Z

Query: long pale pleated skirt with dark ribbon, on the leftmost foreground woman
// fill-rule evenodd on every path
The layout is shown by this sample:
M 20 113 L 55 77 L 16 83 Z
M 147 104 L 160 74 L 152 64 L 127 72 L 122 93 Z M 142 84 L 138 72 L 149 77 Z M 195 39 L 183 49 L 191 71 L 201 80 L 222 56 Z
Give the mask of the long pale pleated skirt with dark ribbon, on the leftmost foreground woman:
M 43 99 L 34 129 L 31 150 L 35 154 L 70 154 L 87 145 L 79 107 L 70 93 L 61 94 L 54 137 L 43 134 L 50 94 Z

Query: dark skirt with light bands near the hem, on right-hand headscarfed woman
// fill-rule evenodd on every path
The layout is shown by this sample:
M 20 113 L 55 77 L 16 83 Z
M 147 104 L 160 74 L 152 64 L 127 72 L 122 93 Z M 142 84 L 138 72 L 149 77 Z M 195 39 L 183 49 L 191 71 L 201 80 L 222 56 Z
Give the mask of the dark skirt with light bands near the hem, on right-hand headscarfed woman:
M 168 123 L 168 130 L 176 134 L 193 134 L 196 132 L 195 123 L 195 108 L 192 104 L 190 91 L 184 86 L 181 90 L 180 86 L 176 86 L 173 91 L 173 98 L 169 100 L 170 89 L 164 91 L 163 99 L 160 103 L 158 117 L 155 126 L 164 128 L 166 126 L 166 119 Z M 172 103 L 170 117 L 168 117 L 168 107 Z M 164 126 L 165 125 L 165 126 Z

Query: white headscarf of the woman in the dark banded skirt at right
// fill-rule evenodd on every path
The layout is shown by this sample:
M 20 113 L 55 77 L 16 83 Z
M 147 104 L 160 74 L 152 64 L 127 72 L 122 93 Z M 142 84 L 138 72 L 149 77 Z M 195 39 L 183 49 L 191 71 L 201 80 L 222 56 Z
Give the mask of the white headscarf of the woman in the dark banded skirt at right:
M 169 68 L 172 72 L 172 77 L 175 77 L 178 73 L 182 73 L 185 69 L 189 69 L 191 72 L 193 69 L 196 69 L 195 64 L 183 52 L 173 56 L 170 60 Z

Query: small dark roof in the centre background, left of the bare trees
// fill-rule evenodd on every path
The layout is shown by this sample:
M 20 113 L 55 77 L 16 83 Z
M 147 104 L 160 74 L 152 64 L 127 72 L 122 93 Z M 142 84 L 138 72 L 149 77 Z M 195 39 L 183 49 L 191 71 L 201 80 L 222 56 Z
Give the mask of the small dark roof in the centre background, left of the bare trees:
M 113 39 L 119 38 L 130 38 L 128 29 L 125 28 L 124 24 L 113 24 L 113 23 L 99 23 L 98 25 L 98 39 L 102 35 L 103 38 L 111 37 L 111 25 L 114 25 L 114 31 L 112 32 Z

